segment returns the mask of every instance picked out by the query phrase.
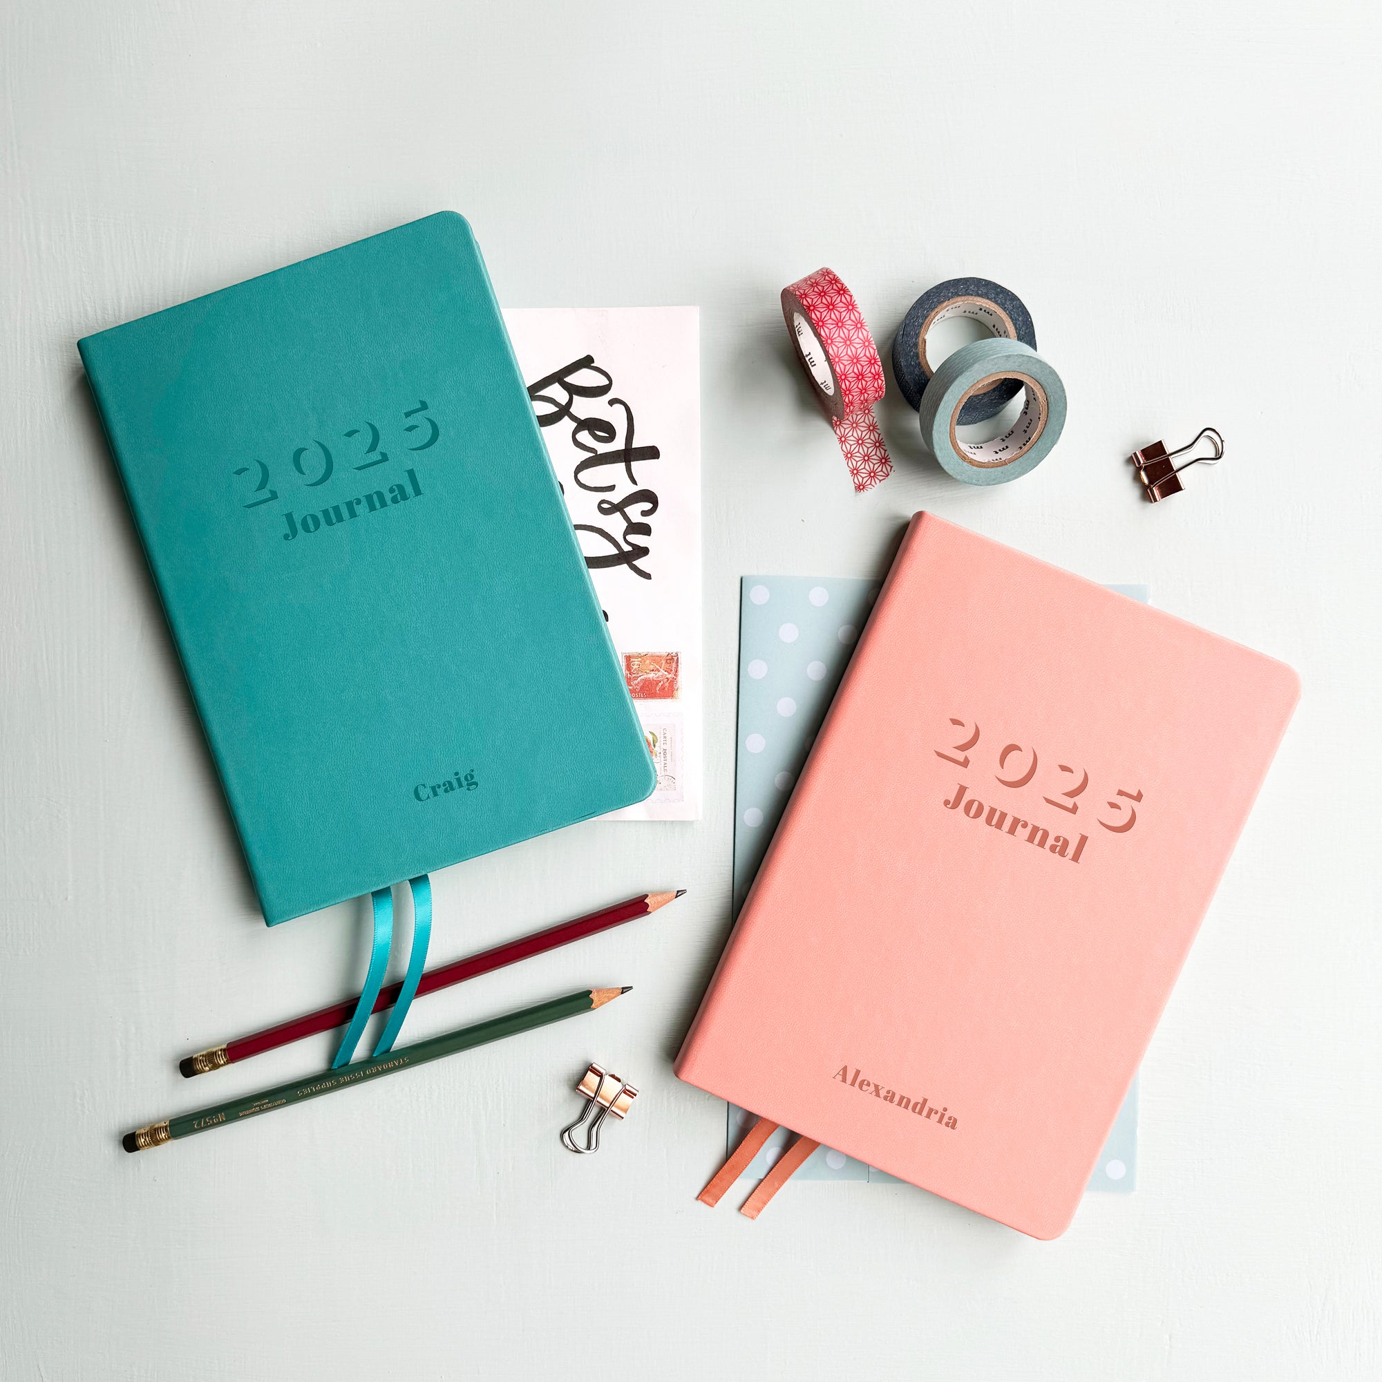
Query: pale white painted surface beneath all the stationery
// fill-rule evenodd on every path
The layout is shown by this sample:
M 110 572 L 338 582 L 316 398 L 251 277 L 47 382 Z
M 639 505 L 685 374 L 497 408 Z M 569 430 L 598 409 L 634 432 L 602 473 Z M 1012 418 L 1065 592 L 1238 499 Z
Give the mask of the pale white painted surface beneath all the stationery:
M 8 0 L 0 1375 L 1376 1376 L 1379 40 L 1339 0 Z M 699 825 L 442 873 L 437 952 L 691 893 L 410 1020 L 636 985 L 579 1028 L 126 1157 L 323 1061 L 174 1068 L 337 995 L 366 941 L 256 915 L 75 341 L 441 207 L 506 304 L 703 308 L 709 778 Z M 1054 456 L 962 489 L 891 404 L 898 474 L 855 499 L 778 316 L 821 264 L 880 340 L 941 278 L 1019 290 Z M 1121 457 L 1211 422 L 1224 464 L 1140 502 Z M 1144 1067 L 1140 1189 L 1053 1244 L 907 1187 L 712 1213 L 723 1110 L 670 1074 L 727 929 L 737 578 L 878 574 L 919 507 L 1305 679 Z M 576 1159 L 589 1059 L 644 1093 Z

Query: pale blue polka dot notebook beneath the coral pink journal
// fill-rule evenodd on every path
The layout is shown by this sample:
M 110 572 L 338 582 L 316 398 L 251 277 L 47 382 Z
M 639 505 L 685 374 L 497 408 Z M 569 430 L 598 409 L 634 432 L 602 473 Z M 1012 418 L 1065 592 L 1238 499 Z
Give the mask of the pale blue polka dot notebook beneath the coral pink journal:
M 763 862 L 882 582 L 842 576 L 745 576 L 739 598 L 739 727 L 734 778 L 734 914 Z M 1110 586 L 1144 604 L 1146 586 Z M 753 1124 L 730 1104 L 728 1147 Z M 761 1180 L 791 1133 L 779 1128 L 746 1175 Z M 818 1147 L 793 1180 L 897 1180 Z M 1137 1082 L 1114 1122 L 1088 1190 L 1129 1194 L 1137 1182 Z

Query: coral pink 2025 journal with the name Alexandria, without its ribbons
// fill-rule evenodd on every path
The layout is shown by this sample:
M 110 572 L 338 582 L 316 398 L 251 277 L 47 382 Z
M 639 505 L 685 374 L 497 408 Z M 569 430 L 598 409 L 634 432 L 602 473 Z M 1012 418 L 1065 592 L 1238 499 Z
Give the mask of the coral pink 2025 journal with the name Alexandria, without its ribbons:
M 1298 697 L 916 514 L 677 1074 L 1057 1237 Z

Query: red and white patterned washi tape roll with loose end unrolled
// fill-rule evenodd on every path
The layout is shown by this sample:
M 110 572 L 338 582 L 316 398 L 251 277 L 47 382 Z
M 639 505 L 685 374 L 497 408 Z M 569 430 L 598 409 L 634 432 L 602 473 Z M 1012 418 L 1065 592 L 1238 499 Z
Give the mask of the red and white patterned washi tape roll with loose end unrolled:
M 883 397 L 883 362 L 854 294 L 818 268 L 782 289 L 782 318 L 815 397 L 831 419 L 858 493 L 893 474 L 873 417 Z

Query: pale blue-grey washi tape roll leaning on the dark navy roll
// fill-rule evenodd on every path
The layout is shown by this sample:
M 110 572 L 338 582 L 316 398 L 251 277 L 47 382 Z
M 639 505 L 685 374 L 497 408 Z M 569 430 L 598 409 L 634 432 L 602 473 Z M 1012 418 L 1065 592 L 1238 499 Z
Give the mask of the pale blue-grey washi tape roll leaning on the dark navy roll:
M 955 434 L 970 398 L 1013 379 L 1024 390 L 1017 422 L 992 441 L 967 442 Z M 1021 341 L 970 341 L 941 361 L 922 394 L 922 441 L 941 467 L 966 485 L 1002 485 L 1035 470 L 1066 426 L 1066 386 Z

